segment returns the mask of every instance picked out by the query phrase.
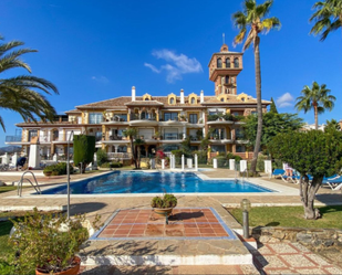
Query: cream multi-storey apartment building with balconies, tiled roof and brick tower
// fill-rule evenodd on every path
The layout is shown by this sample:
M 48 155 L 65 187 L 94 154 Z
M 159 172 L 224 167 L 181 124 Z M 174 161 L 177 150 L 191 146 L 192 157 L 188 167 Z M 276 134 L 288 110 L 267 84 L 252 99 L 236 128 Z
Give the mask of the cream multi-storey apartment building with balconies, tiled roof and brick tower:
M 39 137 L 42 159 L 53 155 L 65 156 L 68 142 L 72 152 L 73 135 L 95 136 L 96 148 L 107 151 L 110 158 L 131 158 L 129 140 L 123 130 L 134 127 L 145 140 L 143 155 L 153 155 L 158 148 L 165 152 L 179 148 L 186 137 L 190 137 L 193 150 L 198 150 L 201 138 L 210 130 L 210 149 L 217 152 L 234 152 L 242 158 L 251 158 L 247 140 L 241 135 L 241 116 L 256 113 L 257 101 L 245 93 L 237 93 L 237 76 L 242 71 L 242 53 L 230 52 L 224 44 L 214 53 L 209 62 L 209 80 L 215 83 L 213 95 L 167 96 L 143 94 L 132 87 L 131 94 L 107 101 L 75 106 L 75 109 L 58 116 L 55 121 L 25 121 L 17 124 L 22 130 L 8 136 L 8 145 L 22 146 L 22 155 L 29 155 L 33 137 Z M 267 112 L 269 101 L 262 101 Z M 35 140 L 35 139 L 34 139 Z

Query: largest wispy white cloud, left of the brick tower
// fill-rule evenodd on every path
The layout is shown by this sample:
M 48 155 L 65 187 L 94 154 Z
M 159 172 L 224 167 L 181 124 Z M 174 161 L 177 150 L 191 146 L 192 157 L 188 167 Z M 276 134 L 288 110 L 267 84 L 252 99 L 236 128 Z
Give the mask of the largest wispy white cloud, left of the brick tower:
M 156 66 L 145 63 L 155 73 L 166 72 L 166 81 L 169 83 L 182 80 L 183 74 L 203 72 L 200 63 L 196 59 L 189 59 L 185 54 L 176 54 L 167 49 L 153 51 L 152 55 L 158 60 L 165 60 L 167 64 L 162 65 L 158 70 Z

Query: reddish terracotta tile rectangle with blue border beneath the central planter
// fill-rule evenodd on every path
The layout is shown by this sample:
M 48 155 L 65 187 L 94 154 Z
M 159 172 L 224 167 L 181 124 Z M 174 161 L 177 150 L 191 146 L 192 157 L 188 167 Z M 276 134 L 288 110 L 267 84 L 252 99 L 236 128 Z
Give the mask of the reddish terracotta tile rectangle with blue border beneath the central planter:
M 168 225 L 153 210 L 121 210 L 99 237 L 229 236 L 210 209 L 174 209 Z

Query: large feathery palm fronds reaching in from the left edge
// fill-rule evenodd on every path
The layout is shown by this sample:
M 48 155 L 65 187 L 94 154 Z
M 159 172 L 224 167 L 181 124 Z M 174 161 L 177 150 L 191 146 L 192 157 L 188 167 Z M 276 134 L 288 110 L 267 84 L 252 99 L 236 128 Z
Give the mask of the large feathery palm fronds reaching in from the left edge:
M 0 40 L 3 40 L 1 35 Z M 21 41 L 0 43 L 0 108 L 19 113 L 24 121 L 28 119 L 37 121 L 37 117 L 52 121 L 55 109 L 43 95 L 37 92 L 39 89 L 51 94 L 52 91 L 59 94 L 58 88 L 51 82 L 33 75 L 19 75 L 9 78 L 3 76 L 11 68 L 18 67 L 31 73 L 29 64 L 24 63 L 20 57 L 25 53 L 37 52 L 37 50 L 17 49 L 23 44 Z M 0 125 L 6 131 L 1 116 Z

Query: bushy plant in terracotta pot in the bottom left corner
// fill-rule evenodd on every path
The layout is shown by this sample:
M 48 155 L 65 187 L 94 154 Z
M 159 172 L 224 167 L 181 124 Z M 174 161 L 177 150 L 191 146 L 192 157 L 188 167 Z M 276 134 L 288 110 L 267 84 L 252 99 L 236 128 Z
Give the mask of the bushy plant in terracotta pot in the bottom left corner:
M 93 226 L 97 229 L 100 216 Z M 12 221 L 14 231 L 9 242 L 17 248 L 12 258 L 15 273 L 77 274 L 81 258 L 76 254 L 89 239 L 85 215 L 68 219 L 65 214 L 41 215 L 37 208 L 24 219 Z M 90 224 L 89 224 L 90 228 Z

